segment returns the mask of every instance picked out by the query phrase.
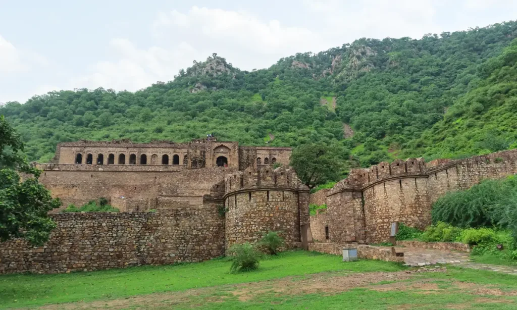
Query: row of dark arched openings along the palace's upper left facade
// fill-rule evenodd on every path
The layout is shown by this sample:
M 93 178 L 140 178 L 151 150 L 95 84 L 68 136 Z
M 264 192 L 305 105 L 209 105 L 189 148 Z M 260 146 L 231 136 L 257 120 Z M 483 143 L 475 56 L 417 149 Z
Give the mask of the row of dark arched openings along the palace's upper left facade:
M 85 160 L 85 164 L 87 165 L 91 165 L 94 163 L 94 160 L 93 160 L 93 155 L 92 154 L 87 154 L 86 155 L 86 160 Z M 185 155 L 183 157 L 183 164 L 186 165 L 187 164 L 187 155 Z M 75 155 L 75 163 L 76 164 L 82 164 L 83 163 L 83 155 L 81 153 L 78 153 L 77 155 Z M 104 155 L 103 154 L 98 154 L 97 155 L 97 160 L 95 161 L 95 163 L 97 165 L 103 165 L 104 164 Z M 128 162 L 130 165 L 136 165 L 136 154 L 130 154 L 129 155 L 129 162 Z M 108 165 L 114 165 L 115 164 L 115 155 L 114 154 L 109 154 L 108 155 Z M 126 154 L 119 154 L 118 155 L 118 159 L 117 159 L 117 164 L 119 165 L 125 165 L 126 164 Z M 139 162 L 140 165 L 147 165 L 147 155 L 146 154 L 142 154 L 140 156 L 140 162 Z M 153 154 L 151 155 L 151 159 L 150 159 L 150 164 L 151 165 L 158 165 L 158 155 L 157 154 Z M 162 158 L 161 158 L 161 164 L 162 165 L 169 165 L 170 164 L 170 161 L 169 161 L 169 155 L 167 154 L 163 154 Z M 174 156 L 172 157 L 172 164 L 173 165 L 179 165 L 179 155 L 178 154 L 174 154 Z

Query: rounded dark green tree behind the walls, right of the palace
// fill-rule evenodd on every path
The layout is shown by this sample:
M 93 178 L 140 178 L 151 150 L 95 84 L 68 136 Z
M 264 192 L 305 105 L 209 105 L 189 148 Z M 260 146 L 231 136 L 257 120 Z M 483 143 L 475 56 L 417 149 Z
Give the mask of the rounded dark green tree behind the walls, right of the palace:
M 337 150 L 324 144 L 305 144 L 295 148 L 290 165 L 309 189 L 339 179 L 341 169 Z

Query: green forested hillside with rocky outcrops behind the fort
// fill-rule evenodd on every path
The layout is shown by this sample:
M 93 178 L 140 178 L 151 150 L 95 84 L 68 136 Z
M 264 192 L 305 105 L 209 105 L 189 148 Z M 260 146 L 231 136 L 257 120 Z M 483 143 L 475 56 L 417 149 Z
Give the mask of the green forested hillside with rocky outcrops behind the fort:
M 213 54 L 136 92 L 50 92 L 0 114 L 38 161 L 62 141 L 185 142 L 207 133 L 243 145 L 332 144 L 345 167 L 461 157 L 517 137 L 516 37 L 517 22 L 505 22 L 418 40 L 363 38 L 252 72 Z

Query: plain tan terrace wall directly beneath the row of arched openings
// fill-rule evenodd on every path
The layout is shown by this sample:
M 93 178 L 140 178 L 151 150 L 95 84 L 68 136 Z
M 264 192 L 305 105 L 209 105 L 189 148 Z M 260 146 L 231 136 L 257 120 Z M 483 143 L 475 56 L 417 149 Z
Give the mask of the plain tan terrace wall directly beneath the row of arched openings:
M 127 166 L 127 170 L 116 171 L 70 171 L 62 170 L 60 165 L 52 166 L 52 170 L 44 170 L 40 182 L 52 192 L 53 197 L 63 201 L 62 208 L 53 212 L 69 204 L 81 206 L 99 197 L 108 198 L 110 204 L 120 211 L 156 209 L 160 197 L 178 203 L 186 202 L 187 205 L 199 205 L 203 195 L 210 194 L 214 184 L 236 171 L 236 168 L 230 167 L 172 172 L 131 170 L 138 166 Z

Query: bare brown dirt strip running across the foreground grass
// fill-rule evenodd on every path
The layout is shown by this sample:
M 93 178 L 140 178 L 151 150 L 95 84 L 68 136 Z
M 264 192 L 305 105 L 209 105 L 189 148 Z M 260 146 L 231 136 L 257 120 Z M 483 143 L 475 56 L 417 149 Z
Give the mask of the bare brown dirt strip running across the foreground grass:
M 431 272 L 435 270 L 427 270 Z M 435 271 L 436 272 L 436 271 Z M 437 271 L 440 272 L 440 271 Z M 76 302 L 59 305 L 49 305 L 42 309 L 69 310 L 69 309 L 92 309 L 109 308 L 122 309 L 138 307 L 144 309 L 152 308 L 175 308 L 179 306 L 203 306 L 206 303 L 224 302 L 227 299 L 238 299 L 246 302 L 261 296 L 295 296 L 310 293 L 320 293 L 323 296 L 333 295 L 352 288 L 362 287 L 377 291 L 406 291 L 416 290 L 419 293 L 440 293 L 444 291 L 459 290 L 468 294 L 489 295 L 499 298 L 479 297 L 476 303 L 490 302 L 511 302 L 506 296 L 517 296 L 517 291 L 501 291 L 496 288 L 481 286 L 467 282 L 445 281 L 445 288 L 440 288 L 435 278 L 421 278 L 422 273 L 417 271 L 399 272 L 368 272 L 368 273 L 318 273 L 303 277 L 285 277 L 276 280 L 241 283 L 236 285 L 223 285 L 190 289 L 180 292 L 161 292 L 150 295 L 126 297 L 115 300 L 103 300 L 94 302 Z M 443 280 L 442 280 L 443 281 Z M 389 282 L 389 283 L 380 283 Z M 474 301 L 474 300 L 473 300 Z M 407 306 L 407 307 L 406 307 Z M 451 304 L 448 308 L 468 308 L 459 304 Z M 412 309 L 414 305 L 397 305 L 397 309 Z

